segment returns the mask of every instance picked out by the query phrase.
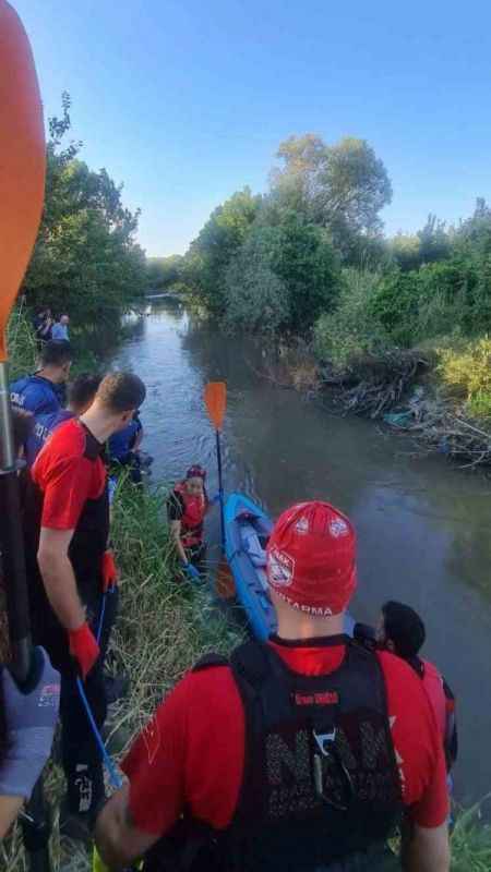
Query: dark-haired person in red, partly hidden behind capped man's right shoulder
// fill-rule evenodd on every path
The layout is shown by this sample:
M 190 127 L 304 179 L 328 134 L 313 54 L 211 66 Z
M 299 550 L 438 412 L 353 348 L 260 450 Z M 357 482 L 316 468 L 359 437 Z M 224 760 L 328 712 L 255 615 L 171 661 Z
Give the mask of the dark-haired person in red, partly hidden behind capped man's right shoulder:
M 424 623 L 414 608 L 393 600 L 384 603 L 376 628 L 376 640 L 379 644 L 405 659 L 421 679 L 439 725 L 450 772 L 458 752 L 456 702 L 436 666 L 419 656 L 426 638 Z

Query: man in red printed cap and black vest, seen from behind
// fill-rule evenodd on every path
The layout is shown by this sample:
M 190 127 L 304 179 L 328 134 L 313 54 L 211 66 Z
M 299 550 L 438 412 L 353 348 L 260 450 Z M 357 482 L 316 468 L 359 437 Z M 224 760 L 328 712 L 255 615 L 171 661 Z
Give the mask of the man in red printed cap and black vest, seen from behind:
M 278 634 L 199 664 L 161 703 L 96 823 L 110 868 L 143 855 L 159 872 L 400 868 L 386 838 L 404 812 L 404 869 L 448 872 L 445 761 L 421 682 L 343 634 L 355 558 L 354 529 L 328 504 L 279 518 L 267 546 Z

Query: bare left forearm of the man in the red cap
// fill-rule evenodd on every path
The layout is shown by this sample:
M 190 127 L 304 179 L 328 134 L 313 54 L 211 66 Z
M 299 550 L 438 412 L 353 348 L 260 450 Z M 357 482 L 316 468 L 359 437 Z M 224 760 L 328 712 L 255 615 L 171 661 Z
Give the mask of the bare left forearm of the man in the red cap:
M 111 870 L 120 870 L 143 857 L 156 841 L 139 829 L 131 818 L 129 786 L 124 785 L 106 803 L 95 827 L 95 843 L 101 860 Z

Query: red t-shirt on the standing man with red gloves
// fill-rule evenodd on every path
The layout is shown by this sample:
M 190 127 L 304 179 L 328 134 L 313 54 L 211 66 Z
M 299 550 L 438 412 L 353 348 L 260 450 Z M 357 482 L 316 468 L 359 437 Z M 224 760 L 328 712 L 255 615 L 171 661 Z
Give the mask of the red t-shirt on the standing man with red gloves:
M 76 419 L 55 431 L 31 471 L 44 495 L 41 526 L 75 530 L 87 499 L 100 497 L 106 485 L 101 450 Z

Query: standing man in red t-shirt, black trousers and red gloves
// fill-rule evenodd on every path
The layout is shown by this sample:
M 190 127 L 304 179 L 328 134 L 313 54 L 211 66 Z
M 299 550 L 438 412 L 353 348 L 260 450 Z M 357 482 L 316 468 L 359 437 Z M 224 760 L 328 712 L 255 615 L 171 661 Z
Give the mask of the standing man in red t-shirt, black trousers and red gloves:
M 68 783 L 64 832 L 75 838 L 88 835 L 94 810 L 104 798 L 99 751 L 75 682 L 80 675 L 100 728 L 107 708 L 103 666 L 110 626 L 106 620 L 99 650 L 96 633 L 109 534 L 101 453 L 106 440 L 127 426 L 144 398 L 137 376 L 106 376 L 89 409 L 61 424 L 39 452 L 26 499 L 33 634 L 61 673 L 61 750 Z

